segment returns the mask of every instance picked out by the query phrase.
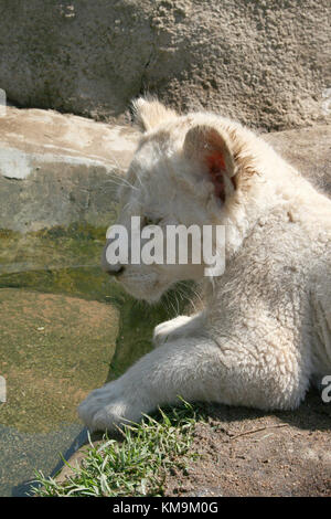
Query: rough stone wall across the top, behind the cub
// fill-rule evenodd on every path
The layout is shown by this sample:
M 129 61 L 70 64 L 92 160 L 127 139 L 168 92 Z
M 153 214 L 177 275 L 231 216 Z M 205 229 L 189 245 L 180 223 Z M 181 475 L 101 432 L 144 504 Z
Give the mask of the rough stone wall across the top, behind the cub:
M 255 127 L 330 118 L 329 0 L 0 0 L 0 87 L 118 117 L 145 89 Z M 329 115 L 328 115 L 329 114 Z

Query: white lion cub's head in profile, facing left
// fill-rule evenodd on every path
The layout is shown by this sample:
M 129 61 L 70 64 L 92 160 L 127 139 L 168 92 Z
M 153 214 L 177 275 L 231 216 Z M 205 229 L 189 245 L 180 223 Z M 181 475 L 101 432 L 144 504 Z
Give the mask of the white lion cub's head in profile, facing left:
M 104 267 L 115 274 L 137 298 L 157 300 L 175 282 L 200 279 L 205 261 L 193 261 L 196 236 L 188 244 L 188 261 L 181 264 L 146 264 L 132 260 L 131 253 L 147 242 L 157 225 L 203 225 L 235 223 L 236 214 L 249 190 L 254 173 L 250 148 L 245 142 L 256 139 L 241 125 L 222 117 L 195 113 L 179 116 L 157 100 L 138 99 L 135 104 L 138 123 L 145 130 L 119 192 L 120 211 L 117 224 L 128 231 L 128 261 Z M 132 216 L 140 218 L 143 235 L 130 244 Z M 137 221 L 137 219 L 135 220 Z M 239 240 L 236 232 L 228 239 Z M 115 237 L 108 240 L 114 243 Z M 138 248 L 139 248 L 138 247 Z M 166 244 L 164 244 L 166 248 Z M 147 262 L 148 263 L 148 262 Z M 150 263 L 150 262 L 149 262 Z

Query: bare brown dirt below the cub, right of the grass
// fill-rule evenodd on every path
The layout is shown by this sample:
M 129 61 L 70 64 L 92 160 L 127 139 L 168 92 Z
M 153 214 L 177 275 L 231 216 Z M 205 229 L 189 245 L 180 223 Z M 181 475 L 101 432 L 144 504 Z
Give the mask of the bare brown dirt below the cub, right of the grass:
M 331 496 L 331 404 L 310 393 L 293 412 L 209 405 L 185 474 L 167 496 Z

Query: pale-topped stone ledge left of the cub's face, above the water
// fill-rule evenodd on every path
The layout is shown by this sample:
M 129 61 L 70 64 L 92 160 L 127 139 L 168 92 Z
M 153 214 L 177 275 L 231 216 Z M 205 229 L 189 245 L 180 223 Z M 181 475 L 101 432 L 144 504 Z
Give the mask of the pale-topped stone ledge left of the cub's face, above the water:
M 118 174 L 137 139 L 129 127 L 8 108 L 0 118 L 0 227 L 29 232 L 84 221 L 108 226 Z

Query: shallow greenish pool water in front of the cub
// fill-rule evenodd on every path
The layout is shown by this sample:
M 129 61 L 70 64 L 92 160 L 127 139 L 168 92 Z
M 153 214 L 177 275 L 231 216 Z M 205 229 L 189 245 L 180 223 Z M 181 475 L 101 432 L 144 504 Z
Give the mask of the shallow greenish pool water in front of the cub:
M 24 495 L 36 469 L 60 469 L 58 453 L 67 459 L 86 439 L 77 404 L 149 351 L 153 327 L 186 305 L 189 292 L 151 309 L 111 283 L 98 266 L 105 232 L 0 230 L 2 496 Z

